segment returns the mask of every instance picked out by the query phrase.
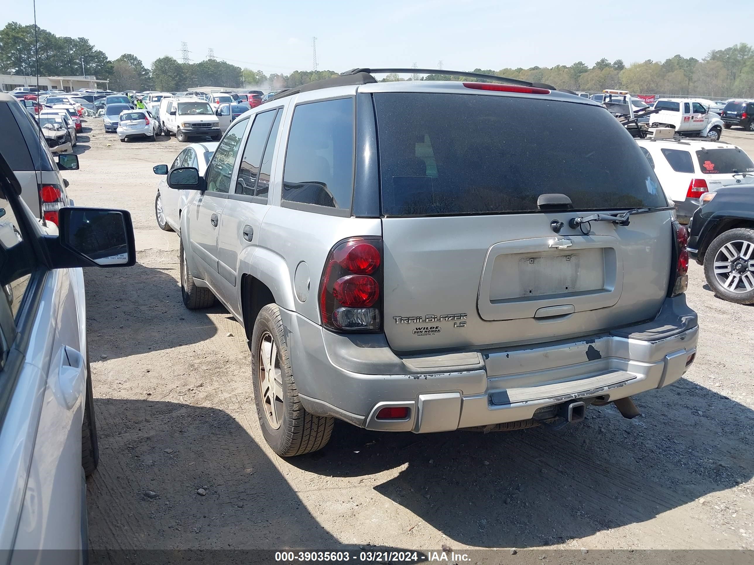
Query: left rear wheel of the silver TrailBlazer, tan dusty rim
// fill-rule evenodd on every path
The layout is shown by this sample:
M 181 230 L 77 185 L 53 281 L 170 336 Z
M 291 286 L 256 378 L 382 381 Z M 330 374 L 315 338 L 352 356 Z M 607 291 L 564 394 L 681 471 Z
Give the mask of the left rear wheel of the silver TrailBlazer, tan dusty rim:
M 308 454 L 325 447 L 333 434 L 335 419 L 309 414 L 302 406 L 277 304 L 267 304 L 256 316 L 251 353 L 254 404 L 267 444 L 280 457 Z M 265 363 L 264 359 L 268 361 Z

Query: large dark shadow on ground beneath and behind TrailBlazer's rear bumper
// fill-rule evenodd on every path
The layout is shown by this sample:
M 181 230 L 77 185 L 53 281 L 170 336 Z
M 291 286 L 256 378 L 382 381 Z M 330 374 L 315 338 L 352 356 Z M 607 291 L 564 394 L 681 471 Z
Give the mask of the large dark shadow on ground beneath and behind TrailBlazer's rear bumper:
M 754 476 L 749 408 L 682 379 L 557 432 L 367 432 L 338 423 L 330 444 L 286 460 L 327 476 L 406 466 L 375 486 L 451 539 L 526 548 L 648 521 Z M 658 449 L 659 447 L 659 449 Z

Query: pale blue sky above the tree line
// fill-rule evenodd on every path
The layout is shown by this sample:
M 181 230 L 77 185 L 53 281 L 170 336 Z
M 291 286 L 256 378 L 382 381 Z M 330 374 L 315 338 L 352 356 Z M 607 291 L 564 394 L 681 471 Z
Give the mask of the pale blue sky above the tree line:
M 319 69 L 434 68 L 439 60 L 444 69 L 502 69 L 578 60 L 591 66 L 602 56 L 626 64 L 676 53 L 701 58 L 710 49 L 752 42 L 751 26 L 720 20 L 750 13 L 750 2 L 38 0 L 37 23 L 57 35 L 86 37 L 112 59 L 134 53 L 146 65 L 164 55 L 179 59 L 186 41 L 194 61 L 212 47 L 219 59 L 267 74 L 311 70 L 316 35 Z M 127 14 L 126 23 L 118 23 L 118 14 Z M 31 0 L 7 2 L 2 18 L 0 26 L 32 23 Z M 665 29 L 651 29 L 652 22 Z

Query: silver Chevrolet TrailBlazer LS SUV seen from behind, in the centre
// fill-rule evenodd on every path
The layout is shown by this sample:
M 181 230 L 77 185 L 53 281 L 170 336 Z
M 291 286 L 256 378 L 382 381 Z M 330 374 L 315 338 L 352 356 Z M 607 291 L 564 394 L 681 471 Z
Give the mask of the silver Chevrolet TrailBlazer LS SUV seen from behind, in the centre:
M 698 332 L 687 234 L 636 142 L 548 85 L 372 77 L 393 70 L 280 93 L 203 177 L 168 173 L 195 191 L 183 301 L 244 324 L 265 439 L 293 456 L 334 418 L 425 433 L 610 402 L 635 416 L 630 396 L 678 380 Z

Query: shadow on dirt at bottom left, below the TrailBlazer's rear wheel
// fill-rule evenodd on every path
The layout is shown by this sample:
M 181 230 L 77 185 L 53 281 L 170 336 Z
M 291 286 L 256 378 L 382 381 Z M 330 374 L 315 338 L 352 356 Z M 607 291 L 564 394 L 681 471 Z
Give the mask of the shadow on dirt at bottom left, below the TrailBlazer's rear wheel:
M 317 522 L 227 412 L 96 399 L 95 414 L 100 465 L 87 480 L 90 563 L 256 563 L 259 557 L 203 549 L 358 551 Z M 124 548 L 170 549 L 173 559 Z

